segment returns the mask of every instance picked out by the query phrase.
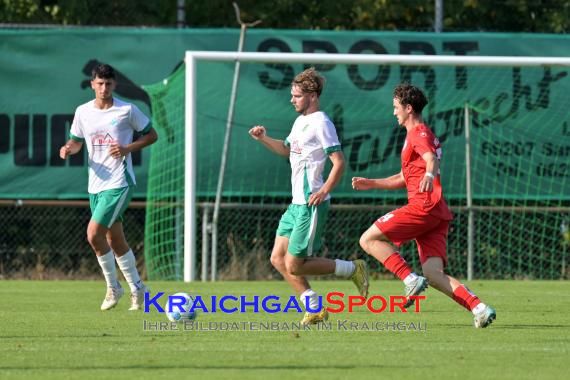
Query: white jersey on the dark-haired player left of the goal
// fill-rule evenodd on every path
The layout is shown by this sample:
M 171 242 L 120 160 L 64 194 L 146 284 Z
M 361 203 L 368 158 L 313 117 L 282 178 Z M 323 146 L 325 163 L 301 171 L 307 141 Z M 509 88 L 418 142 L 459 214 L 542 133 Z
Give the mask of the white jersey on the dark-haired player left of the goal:
M 121 159 L 109 154 L 111 144 L 121 146 L 133 141 L 134 131 L 150 127 L 149 119 L 134 104 L 113 98 L 108 109 L 95 107 L 95 100 L 77 107 L 71 124 L 71 138 L 85 143 L 89 155 L 91 194 L 135 185 L 131 155 Z

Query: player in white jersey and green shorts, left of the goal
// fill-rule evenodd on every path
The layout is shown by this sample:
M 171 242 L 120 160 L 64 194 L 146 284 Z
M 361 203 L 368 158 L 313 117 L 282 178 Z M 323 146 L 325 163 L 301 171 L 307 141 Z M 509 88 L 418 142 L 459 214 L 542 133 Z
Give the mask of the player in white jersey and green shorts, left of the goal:
M 157 140 L 149 119 L 133 104 L 113 97 L 115 71 L 107 64 L 93 69 L 91 88 L 95 99 L 77 107 L 70 139 L 59 150 L 66 159 L 81 150 L 89 154 L 89 203 L 91 220 L 87 240 L 95 251 L 107 282 L 101 310 L 117 305 L 124 290 L 117 279 L 115 259 L 131 289 L 131 307 L 139 310 L 148 288 L 140 279 L 133 251 L 123 233 L 122 215 L 135 186 L 131 152 Z M 142 136 L 133 141 L 134 131 Z

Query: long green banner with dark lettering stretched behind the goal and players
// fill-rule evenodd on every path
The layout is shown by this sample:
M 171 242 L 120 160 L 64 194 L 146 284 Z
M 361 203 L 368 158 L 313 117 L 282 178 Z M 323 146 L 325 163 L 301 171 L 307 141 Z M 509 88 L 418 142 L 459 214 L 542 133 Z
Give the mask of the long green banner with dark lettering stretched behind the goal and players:
M 141 85 L 162 81 L 186 50 L 235 51 L 238 30 L 81 29 L 0 31 L 0 198 L 84 198 L 85 155 L 64 162 L 58 149 L 75 108 L 93 97 L 96 62 L 120 73 L 116 95 L 158 112 Z M 245 51 L 429 55 L 564 56 L 570 37 L 332 31 L 248 31 Z M 288 164 L 248 135 L 267 125 L 285 138 L 295 118 L 287 107 L 292 75 L 304 65 L 242 65 L 232 134 L 228 195 L 286 196 Z M 426 90 L 426 122 L 443 145 L 442 178 L 450 198 L 464 198 L 464 103 L 471 108 L 472 186 L 479 198 L 568 199 L 568 69 L 326 65 L 322 108 L 334 119 L 348 168 L 337 197 L 355 193 L 350 178 L 399 171 L 404 133 L 392 116 L 401 81 Z M 198 191 L 215 193 L 233 64 L 201 64 L 198 86 Z M 212 83 L 219 83 L 215 89 Z M 178 89 L 180 91 L 180 88 Z M 183 97 L 183 93 L 180 93 Z M 158 107 L 158 108 L 157 108 Z M 159 132 L 161 130 L 159 129 Z M 168 141 L 162 131 L 159 143 Z M 137 197 L 144 197 L 150 150 L 135 154 Z M 401 196 L 395 192 L 393 196 Z

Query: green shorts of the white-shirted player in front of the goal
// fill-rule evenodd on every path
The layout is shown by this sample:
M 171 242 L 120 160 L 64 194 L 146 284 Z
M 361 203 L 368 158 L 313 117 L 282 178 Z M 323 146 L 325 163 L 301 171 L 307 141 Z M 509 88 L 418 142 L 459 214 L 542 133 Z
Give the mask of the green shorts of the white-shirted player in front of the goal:
M 289 238 L 290 254 L 307 257 L 321 248 L 321 237 L 329 207 L 330 201 L 318 206 L 291 204 L 287 207 L 287 211 L 279 220 L 277 236 Z

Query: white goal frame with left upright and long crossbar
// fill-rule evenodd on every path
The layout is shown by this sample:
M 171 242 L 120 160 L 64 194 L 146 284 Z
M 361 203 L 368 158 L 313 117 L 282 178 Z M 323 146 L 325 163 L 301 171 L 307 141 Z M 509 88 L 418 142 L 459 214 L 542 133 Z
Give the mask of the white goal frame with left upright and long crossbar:
M 185 98 L 184 281 L 196 280 L 196 66 L 198 61 L 402 66 L 568 67 L 566 57 L 443 56 L 187 51 Z

